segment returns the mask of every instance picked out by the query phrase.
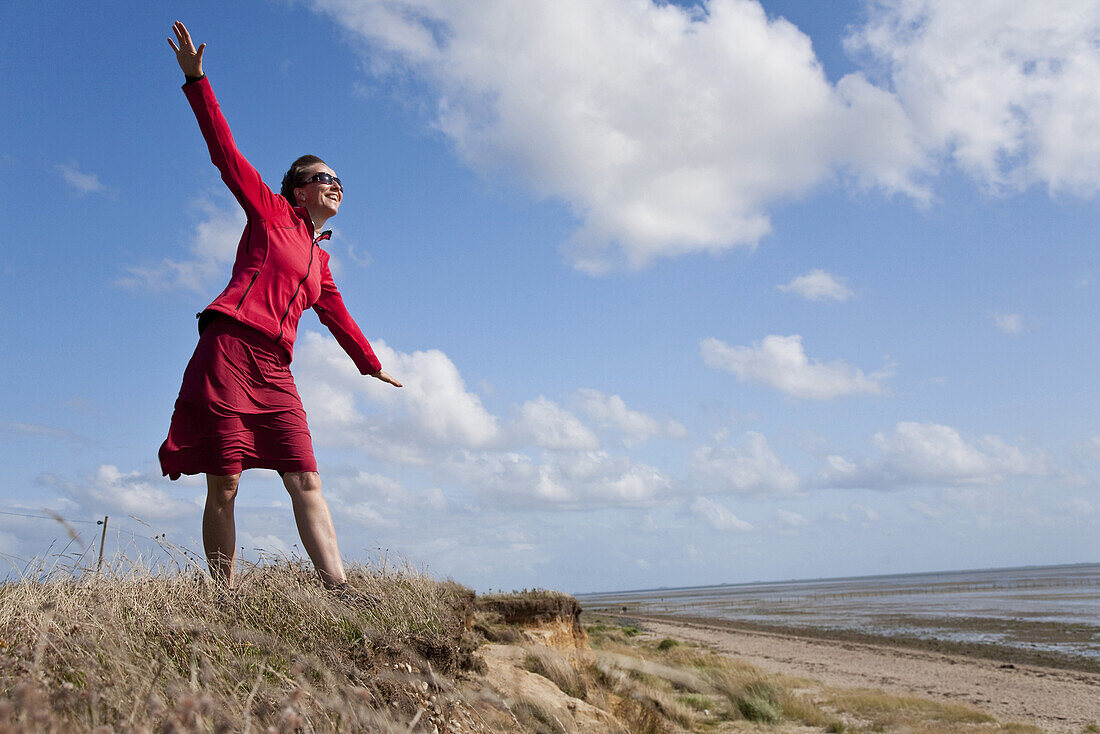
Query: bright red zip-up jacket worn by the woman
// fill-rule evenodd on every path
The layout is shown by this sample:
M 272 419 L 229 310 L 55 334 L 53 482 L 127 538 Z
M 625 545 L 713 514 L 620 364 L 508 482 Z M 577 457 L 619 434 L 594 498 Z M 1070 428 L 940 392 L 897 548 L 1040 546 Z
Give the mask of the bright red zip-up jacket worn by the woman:
M 361 373 L 381 370 L 382 363 L 332 282 L 329 253 L 318 244 L 329 232 L 315 241 L 309 212 L 292 207 L 267 188 L 237 150 L 206 77 L 185 84 L 184 94 L 210 147 L 210 160 L 249 218 L 237 245 L 229 285 L 206 310 L 224 314 L 267 335 L 293 359 L 298 319 L 312 307 Z M 200 329 L 204 325 L 200 319 Z

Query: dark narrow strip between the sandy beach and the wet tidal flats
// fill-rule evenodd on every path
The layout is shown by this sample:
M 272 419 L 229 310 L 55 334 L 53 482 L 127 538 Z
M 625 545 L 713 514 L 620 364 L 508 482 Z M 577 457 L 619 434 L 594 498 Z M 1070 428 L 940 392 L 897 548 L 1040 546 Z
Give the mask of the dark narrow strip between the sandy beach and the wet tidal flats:
M 1100 673 L 1100 659 L 1090 659 L 1074 655 L 1063 655 L 1052 650 L 1028 650 L 1025 648 L 994 643 L 958 643 L 943 639 L 930 639 L 912 635 L 875 635 L 851 629 L 829 629 L 824 627 L 800 627 L 791 625 L 760 624 L 756 622 L 721 620 L 692 614 L 651 614 L 634 612 L 612 612 L 602 609 L 584 609 L 584 616 L 613 617 L 622 622 L 647 621 L 663 622 L 676 625 L 689 625 L 711 629 L 729 629 L 734 632 L 766 633 L 782 637 L 821 639 L 835 643 L 860 643 L 877 647 L 899 647 L 904 649 L 916 649 L 927 653 L 941 653 L 944 655 L 957 655 L 982 660 L 990 660 L 1002 665 L 1027 665 L 1056 668 L 1059 670 L 1079 670 L 1082 672 Z M 983 622 L 983 620 L 976 620 Z

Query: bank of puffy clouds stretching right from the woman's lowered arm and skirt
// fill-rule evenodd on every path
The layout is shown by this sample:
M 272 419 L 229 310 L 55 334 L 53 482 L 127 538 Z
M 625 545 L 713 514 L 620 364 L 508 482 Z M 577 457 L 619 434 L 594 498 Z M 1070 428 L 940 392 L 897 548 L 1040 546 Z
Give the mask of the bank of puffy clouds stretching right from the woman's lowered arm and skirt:
M 374 348 L 405 387 L 362 376 L 334 339 L 301 332 L 298 388 L 319 446 L 352 446 L 394 464 L 428 464 L 439 481 L 509 504 L 646 505 L 670 493 L 672 482 L 661 471 L 601 450 L 588 426 L 546 396 L 527 401 L 502 423 L 441 351 L 406 353 L 381 340 Z M 337 480 L 339 494 L 353 496 L 343 486 L 349 481 Z M 355 481 L 362 485 L 355 495 L 385 490 L 377 478 Z M 447 505 L 438 489 L 417 502 Z M 374 525 L 396 512 L 373 500 L 361 510 L 360 521 Z

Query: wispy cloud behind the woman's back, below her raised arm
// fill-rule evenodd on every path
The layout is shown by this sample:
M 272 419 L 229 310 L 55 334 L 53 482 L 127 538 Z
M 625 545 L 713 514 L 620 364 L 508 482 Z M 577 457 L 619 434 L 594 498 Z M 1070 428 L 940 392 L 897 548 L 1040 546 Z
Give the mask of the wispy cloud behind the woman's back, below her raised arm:
M 209 198 L 194 201 L 202 219 L 195 228 L 184 260 L 165 258 L 154 265 L 130 265 L 121 285 L 154 293 L 183 288 L 205 293 L 212 285 L 229 280 L 237 256 L 237 245 L 244 230 L 244 212 L 228 196 L 221 204 Z M 231 206 L 230 206 L 231 202 Z

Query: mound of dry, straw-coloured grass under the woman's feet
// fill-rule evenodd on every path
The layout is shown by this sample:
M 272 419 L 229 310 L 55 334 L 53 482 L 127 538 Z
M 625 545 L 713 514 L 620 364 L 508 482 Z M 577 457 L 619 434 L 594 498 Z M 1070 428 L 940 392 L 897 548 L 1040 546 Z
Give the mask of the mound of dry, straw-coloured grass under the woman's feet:
M 331 592 L 286 560 L 246 567 L 233 590 L 133 566 L 7 583 L 0 719 L 12 732 L 419 731 L 429 692 L 439 716 L 453 703 L 437 673 L 471 660 L 472 602 L 388 567 L 351 568 Z

